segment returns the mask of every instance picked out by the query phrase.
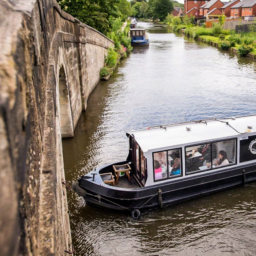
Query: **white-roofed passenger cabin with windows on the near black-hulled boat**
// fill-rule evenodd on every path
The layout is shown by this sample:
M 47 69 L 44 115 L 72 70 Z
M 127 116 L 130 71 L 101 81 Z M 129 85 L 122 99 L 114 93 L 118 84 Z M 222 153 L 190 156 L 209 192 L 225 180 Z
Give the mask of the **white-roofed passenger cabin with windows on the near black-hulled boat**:
M 246 116 L 131 131 L 127 159 L 140 186 L 255 163 L 255 127 Z

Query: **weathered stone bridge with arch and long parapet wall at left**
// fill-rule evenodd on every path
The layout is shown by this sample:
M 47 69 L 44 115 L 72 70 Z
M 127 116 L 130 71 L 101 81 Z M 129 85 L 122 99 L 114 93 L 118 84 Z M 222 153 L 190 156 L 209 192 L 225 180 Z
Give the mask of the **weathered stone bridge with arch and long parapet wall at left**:
M 100 80 L 106 36 L 55 0 L 0 1 L 1 255 L 68 255 L 61 138 Z

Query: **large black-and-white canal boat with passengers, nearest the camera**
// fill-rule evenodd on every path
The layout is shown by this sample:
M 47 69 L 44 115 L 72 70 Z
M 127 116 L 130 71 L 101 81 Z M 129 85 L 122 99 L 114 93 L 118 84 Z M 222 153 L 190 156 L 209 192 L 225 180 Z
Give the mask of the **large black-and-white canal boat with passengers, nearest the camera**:
M 148 127 L 127 137 L 126 160 L 78 180 L 87 203 L 130 210 L 137 219 L 140 210 L 256 180 L 256 115 Z

